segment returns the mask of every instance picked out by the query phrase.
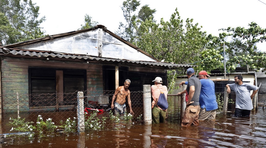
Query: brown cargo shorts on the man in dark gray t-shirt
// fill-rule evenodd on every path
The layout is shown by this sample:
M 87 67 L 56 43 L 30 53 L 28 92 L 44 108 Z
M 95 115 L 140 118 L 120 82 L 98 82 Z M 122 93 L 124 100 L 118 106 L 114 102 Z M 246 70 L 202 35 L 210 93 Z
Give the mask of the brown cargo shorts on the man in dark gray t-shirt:
M 199 125 L 199 109 L 199 105 L 187 106 L 181 125 L 186 127 L 190 126 L 191 124 Z

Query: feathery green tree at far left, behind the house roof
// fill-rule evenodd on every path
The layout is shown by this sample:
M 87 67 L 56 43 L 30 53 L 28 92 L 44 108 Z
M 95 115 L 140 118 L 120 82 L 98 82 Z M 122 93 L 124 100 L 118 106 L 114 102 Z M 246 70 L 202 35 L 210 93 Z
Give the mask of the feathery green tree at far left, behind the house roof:
M 13 28 L 13 31 L 7 31 L 5 36 L 1 37 L 4 44 L 30 38 L 27 37 L 28 32 L 38 32 L 42 34 L 41 36 L 45 36 L 44 32 L 40 31 L 40 24 L 45 21 L 45 16 L 38 19 L 39 6 L 35 6 L 36 3 L 32 3 L 32 0 L 0 0 L 0 3 L 0 12 L 8 19 L 8 26 Z M 3 34 L 1 32 L 1 35 Z

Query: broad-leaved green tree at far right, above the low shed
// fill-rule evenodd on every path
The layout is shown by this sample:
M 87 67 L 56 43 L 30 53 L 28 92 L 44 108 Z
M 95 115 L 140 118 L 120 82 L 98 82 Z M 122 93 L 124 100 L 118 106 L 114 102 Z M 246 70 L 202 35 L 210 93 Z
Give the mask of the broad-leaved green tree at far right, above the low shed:
M 265 68 L 266 52 L 259 51 L 256 44 L 266 41 L 266 29 L 261 28 L 255 22 L 249 23 L 248 26 L 249 28 L 221 29 L 227 31 L 225 36 L 232 39 L 226 42 L 228 54 L 226 66 L 230 68 L 247 67 L 247 70 Z

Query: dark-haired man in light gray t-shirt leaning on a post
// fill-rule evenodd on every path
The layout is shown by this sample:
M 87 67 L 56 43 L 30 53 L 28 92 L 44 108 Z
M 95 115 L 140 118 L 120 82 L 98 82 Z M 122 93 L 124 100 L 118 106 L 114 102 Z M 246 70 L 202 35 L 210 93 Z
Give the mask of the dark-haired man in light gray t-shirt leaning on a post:
M 249 83 L 242 82 L 243 77 L 241 75 L 237 75 L 234 77 L 235 84 L 227 84 L 227 92 L 230 93 L 231 89 L 235 91 L 236 94 L 236 102 L 235 102 L 235 117 L 247 117 L 250 115 L 252 106 L 252 98 L 258 91 L 258 87 L 255 85 L 251 85 Z M 250 95 L 250 91 L 253 90 Z

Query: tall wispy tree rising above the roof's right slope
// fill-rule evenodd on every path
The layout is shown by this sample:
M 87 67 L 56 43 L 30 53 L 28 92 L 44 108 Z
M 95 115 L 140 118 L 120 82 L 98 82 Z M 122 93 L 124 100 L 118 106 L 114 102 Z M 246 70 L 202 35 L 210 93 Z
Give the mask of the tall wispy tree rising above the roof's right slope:
M 144 5 L 140 8 L 139 12 L 136 12 L 140 6 L 140 1 L 137 0 L 127 0 L 124 1 L 121 9 L 126 23 L 119 23 L 119 30 L 115 33 L 121 36 L 123 39 L 133 42 L 136 36 L 140 36 L 139 31 L 140 24 L 151 19 L 153 20 L 153 14 L 156 12 L 155 9 L 151 9 L 148 5 Z

